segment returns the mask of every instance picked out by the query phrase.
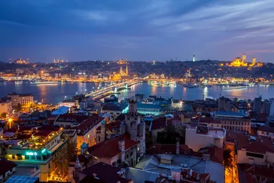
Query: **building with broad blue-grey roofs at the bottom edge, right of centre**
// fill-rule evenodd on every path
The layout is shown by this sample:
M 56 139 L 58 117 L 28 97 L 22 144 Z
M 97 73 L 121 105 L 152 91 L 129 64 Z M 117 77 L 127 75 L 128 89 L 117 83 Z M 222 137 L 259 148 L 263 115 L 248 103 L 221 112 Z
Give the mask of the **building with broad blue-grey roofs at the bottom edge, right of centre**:
M 125 178 L 143 182 L 225 182 L 223 164 L 194 156 L 157 154 L 146 155 L 137 166 L 126 169 Z

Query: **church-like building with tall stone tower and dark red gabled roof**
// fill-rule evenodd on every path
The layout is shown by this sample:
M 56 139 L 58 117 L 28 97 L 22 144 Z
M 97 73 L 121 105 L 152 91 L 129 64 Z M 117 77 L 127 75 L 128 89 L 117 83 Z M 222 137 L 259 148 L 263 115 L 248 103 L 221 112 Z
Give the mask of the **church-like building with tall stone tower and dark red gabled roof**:
M 145 122 L 137 112 L 135 97 L 129 99 L 129 112 L 120 125 L 120 134 L 109 141 L 103 141 L 88 149 L 95 162 L 105 162 L 114 166 L 127 164 L 134 167 L 137 157 L 145 153 Z

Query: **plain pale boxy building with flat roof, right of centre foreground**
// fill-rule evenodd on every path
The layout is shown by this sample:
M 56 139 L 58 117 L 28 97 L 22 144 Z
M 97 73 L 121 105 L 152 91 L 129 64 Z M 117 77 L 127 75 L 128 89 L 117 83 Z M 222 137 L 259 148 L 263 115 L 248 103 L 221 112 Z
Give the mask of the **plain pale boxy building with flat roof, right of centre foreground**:
M 199 151 L 203 147 L 223 147 L 225 129 L 221 127 L 208 127 L 207 124 L 186 127 L 186 145 L 193 151 Z

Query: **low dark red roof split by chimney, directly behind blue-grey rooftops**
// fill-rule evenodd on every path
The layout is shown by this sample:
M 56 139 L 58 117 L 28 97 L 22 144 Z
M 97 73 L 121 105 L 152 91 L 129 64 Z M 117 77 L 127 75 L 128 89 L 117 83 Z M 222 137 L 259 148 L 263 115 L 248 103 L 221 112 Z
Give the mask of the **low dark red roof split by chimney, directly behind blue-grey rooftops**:
M 176 154 L 176 145 L 173 144 L 155 144 L 149 146 L 151 154 Z M 188 145 L 179 145 L 179 154 L 191 155 Z

